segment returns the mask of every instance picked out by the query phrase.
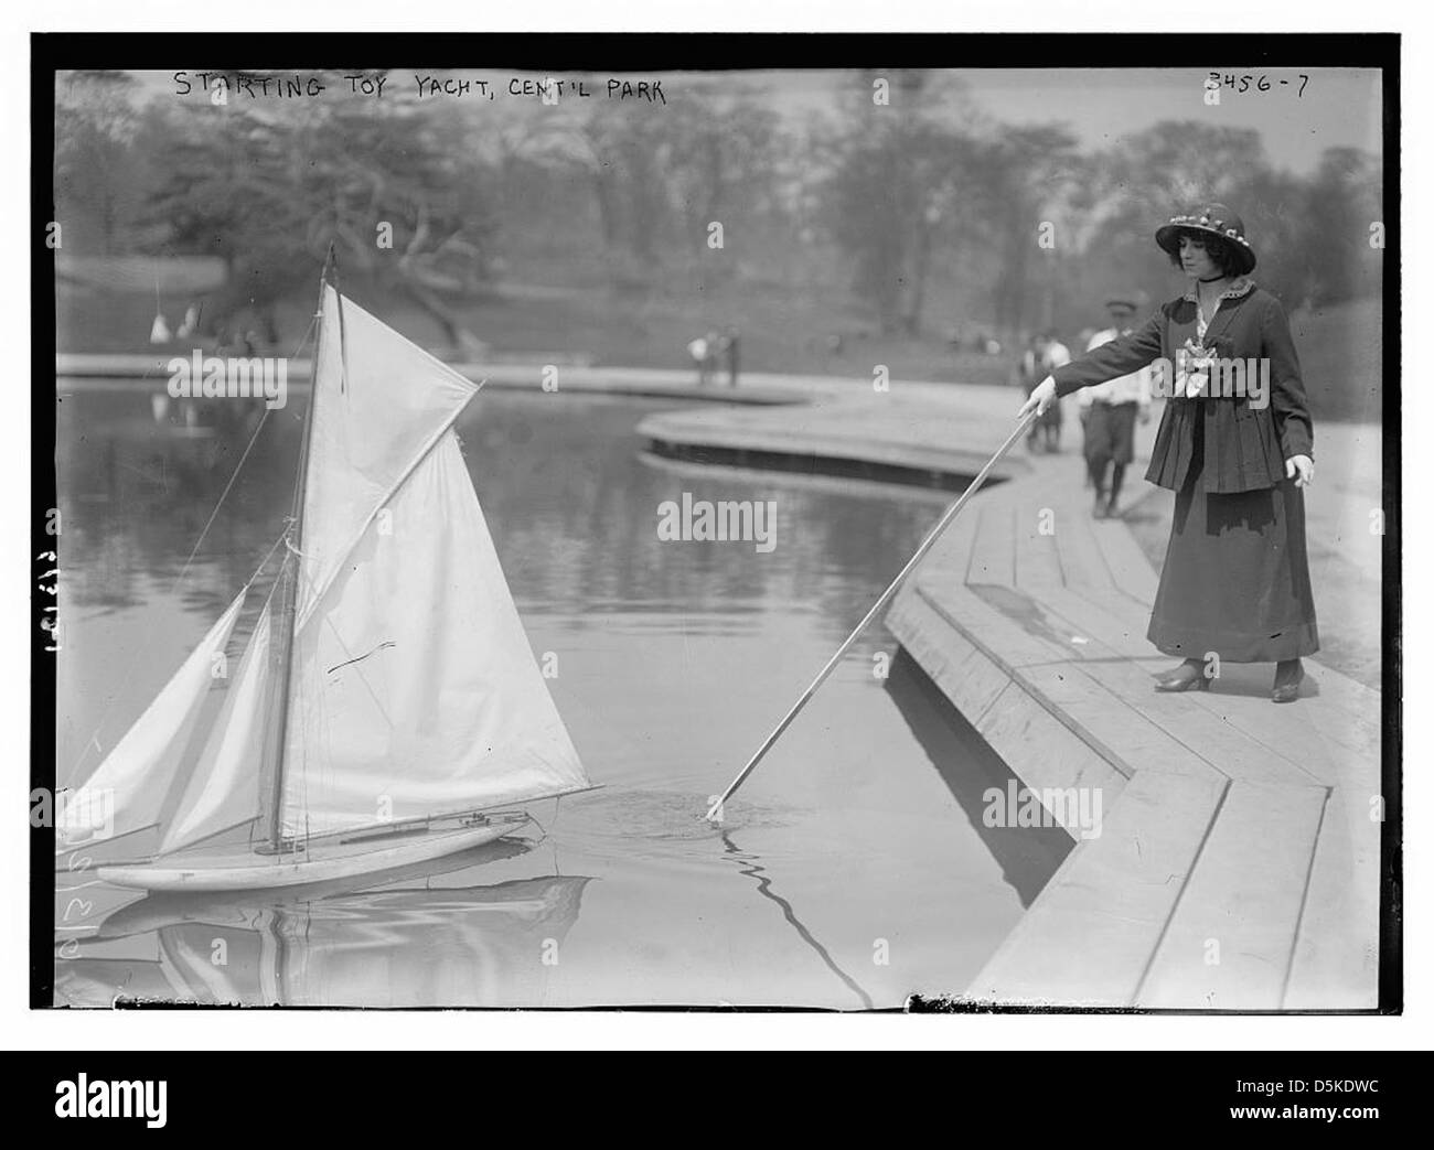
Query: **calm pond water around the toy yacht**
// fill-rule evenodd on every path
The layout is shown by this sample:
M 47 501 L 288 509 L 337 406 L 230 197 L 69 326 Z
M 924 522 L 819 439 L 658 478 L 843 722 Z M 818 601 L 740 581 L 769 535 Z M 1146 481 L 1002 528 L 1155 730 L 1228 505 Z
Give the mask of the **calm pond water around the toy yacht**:
M 277 538 L 304 400 L 271 414 L 176 588 L 255 413 L 229 403 L 231 426 L 209 433 L 139 389 L 62 381 L 59 394 L 66 786 Z M 523 839 L 366 890 L 146 898 L 72 856 L 56 873 L 56 1002 L 859 1009 L 964 989 L 1070 843 L 1060 829 L 981 823 L 1005 767 L 882 628 L 723 825 L 701 817 L 941 500 L 652 459 L 632 427 L 664 407 L 485 393 L 459 424 L 533 651 L 556 655 L 549 687 L 599 790 L 533 803 Z M 774 548 L 660 539 L 660 503 L 684 493 L 776 500 Z

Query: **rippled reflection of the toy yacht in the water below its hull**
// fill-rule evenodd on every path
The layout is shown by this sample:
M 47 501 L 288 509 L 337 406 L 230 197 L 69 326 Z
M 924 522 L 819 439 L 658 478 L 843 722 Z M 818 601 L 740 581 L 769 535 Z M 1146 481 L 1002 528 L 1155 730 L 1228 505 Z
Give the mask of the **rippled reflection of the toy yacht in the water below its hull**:
M 369 890 L 149 895 L 57 964 L 56 1002 L 541 1007 L 591 879 L 459 885 L 482 875 L 473 868 L 528 850 L 499 840 Z M 125 942 L 136 958 L 99 956 Z

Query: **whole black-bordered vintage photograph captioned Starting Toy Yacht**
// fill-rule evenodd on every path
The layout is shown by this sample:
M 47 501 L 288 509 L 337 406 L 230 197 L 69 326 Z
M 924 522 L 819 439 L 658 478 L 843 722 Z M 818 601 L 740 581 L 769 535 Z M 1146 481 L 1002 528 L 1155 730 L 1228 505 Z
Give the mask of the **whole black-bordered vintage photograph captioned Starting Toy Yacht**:
M 43 1005 L 1398 998 L 1397 37 L 44 39 Z

